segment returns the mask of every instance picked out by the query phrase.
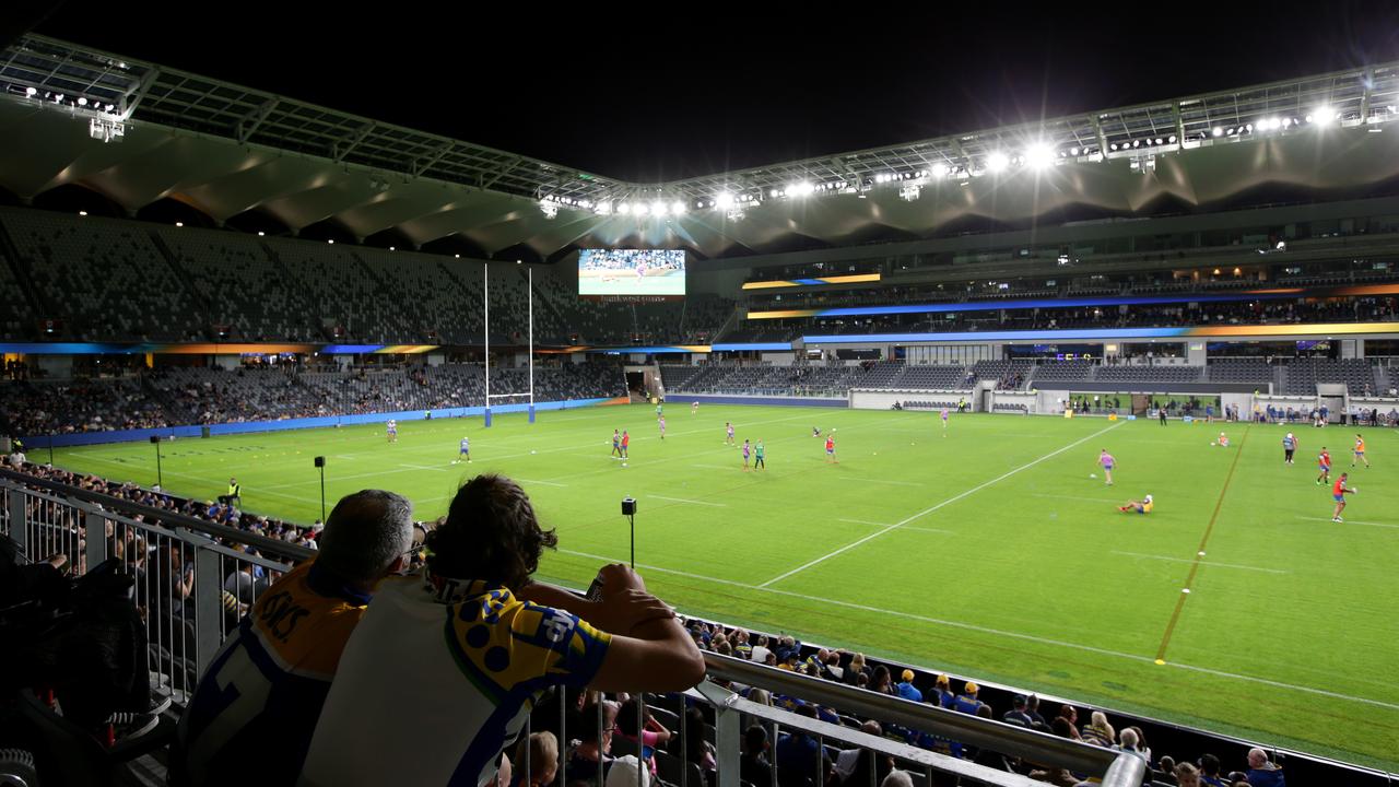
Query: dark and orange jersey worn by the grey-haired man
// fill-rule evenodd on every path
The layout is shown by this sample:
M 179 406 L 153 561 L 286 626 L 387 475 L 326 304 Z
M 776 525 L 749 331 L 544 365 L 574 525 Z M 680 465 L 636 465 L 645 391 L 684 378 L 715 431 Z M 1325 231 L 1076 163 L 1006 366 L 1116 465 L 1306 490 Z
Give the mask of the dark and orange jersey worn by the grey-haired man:
M 267 588 L 214 657 L 180 718 L 189 777 L 199 784 L 292 784 L 340 654 L 368 604 L 313 560 Z

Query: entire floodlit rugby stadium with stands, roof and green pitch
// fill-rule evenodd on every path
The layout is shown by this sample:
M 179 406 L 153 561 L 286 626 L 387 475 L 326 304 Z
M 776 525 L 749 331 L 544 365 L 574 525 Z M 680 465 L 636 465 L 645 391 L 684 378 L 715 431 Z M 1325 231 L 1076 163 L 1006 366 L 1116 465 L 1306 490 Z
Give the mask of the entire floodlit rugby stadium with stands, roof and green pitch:
M 1399 60 L 1212 78 L 623 179 L 15 35 L 0 784 L 1399 783 Z

